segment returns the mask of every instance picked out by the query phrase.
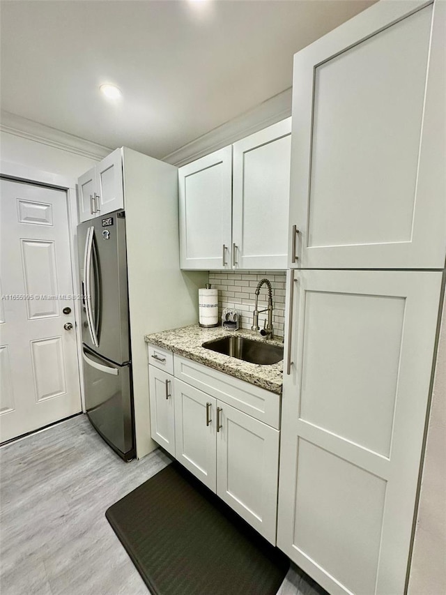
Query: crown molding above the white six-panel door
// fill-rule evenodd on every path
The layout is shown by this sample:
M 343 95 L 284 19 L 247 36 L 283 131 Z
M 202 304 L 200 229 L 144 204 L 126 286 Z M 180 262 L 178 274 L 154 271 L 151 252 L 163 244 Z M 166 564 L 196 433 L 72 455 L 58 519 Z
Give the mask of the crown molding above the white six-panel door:
M 54 146 L 61 151 L 75 153 L 75 155 L 81 155 L 82 157 L 95 160 L 101 160 L 112 151 L 112 149 L 102 144 L 65 133 L 63 130 L 45 126 L 22 116 L 17 116 L 17 114 L 5 112 L 4 110 L 1 110 L 0 130 L 3 133 L 40 142 L 41 144 L 47 144 L 48 146 Z

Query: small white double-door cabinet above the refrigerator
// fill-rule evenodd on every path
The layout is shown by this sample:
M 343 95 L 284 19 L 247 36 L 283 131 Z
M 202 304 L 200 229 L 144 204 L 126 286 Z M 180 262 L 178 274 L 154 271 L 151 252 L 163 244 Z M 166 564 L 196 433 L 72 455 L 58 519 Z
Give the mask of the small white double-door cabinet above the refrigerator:
M 79 222 L 124 208 L 122 149 L 79 177 Z

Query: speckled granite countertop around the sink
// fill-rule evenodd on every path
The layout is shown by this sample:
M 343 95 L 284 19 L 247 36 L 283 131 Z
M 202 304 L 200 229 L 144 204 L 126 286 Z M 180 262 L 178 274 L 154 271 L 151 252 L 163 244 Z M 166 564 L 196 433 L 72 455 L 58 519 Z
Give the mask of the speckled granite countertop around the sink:
M 244 329 L 240 331 L 227 331 L 226 329 L 222 329 L 221 326 L 204 329 L 198 324 L 183 326 L 181 329 L 153 333 L 146 335 L 145 339 L 148 343 L 169 349 L 169 351 L 175 354 L 202 363 L 204 366 L 209 366 L 230 376 L 240 378 L 240 380 L 260 386 L 262 389 L 266 389 L 272 393 L 281 394 L 284 369 L 283 361 L 273 363 L 270 366 L 260 366 L 256 363 L 248 363 L 247 361 L 242 361 L 241 359 L 201 347 L 205 341 L 212 341 L 226 335 L 237 335 L 265 342 L 265 339 L 261 338 L 259 333 L 255 333 L 254 331 L 245 331 Z M 283 345 L 281 340 L 272 339 L 268 340 L 268 342 L 275 345 Z

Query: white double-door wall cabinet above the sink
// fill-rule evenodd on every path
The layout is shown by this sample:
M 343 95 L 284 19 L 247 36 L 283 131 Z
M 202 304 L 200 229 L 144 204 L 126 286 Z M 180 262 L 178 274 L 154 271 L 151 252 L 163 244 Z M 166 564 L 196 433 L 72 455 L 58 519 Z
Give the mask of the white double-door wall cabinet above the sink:
M 291 118 L 180 167 L 182 269 L 286 269 Z

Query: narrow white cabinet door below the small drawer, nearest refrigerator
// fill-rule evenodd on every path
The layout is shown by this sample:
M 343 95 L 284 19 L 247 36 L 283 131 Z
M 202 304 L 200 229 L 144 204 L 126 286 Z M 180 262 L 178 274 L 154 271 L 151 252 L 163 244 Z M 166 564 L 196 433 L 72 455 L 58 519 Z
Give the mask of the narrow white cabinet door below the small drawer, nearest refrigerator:
M 152 438 L 175 456 L 174 377 L 155 366 L 148 367 Z

